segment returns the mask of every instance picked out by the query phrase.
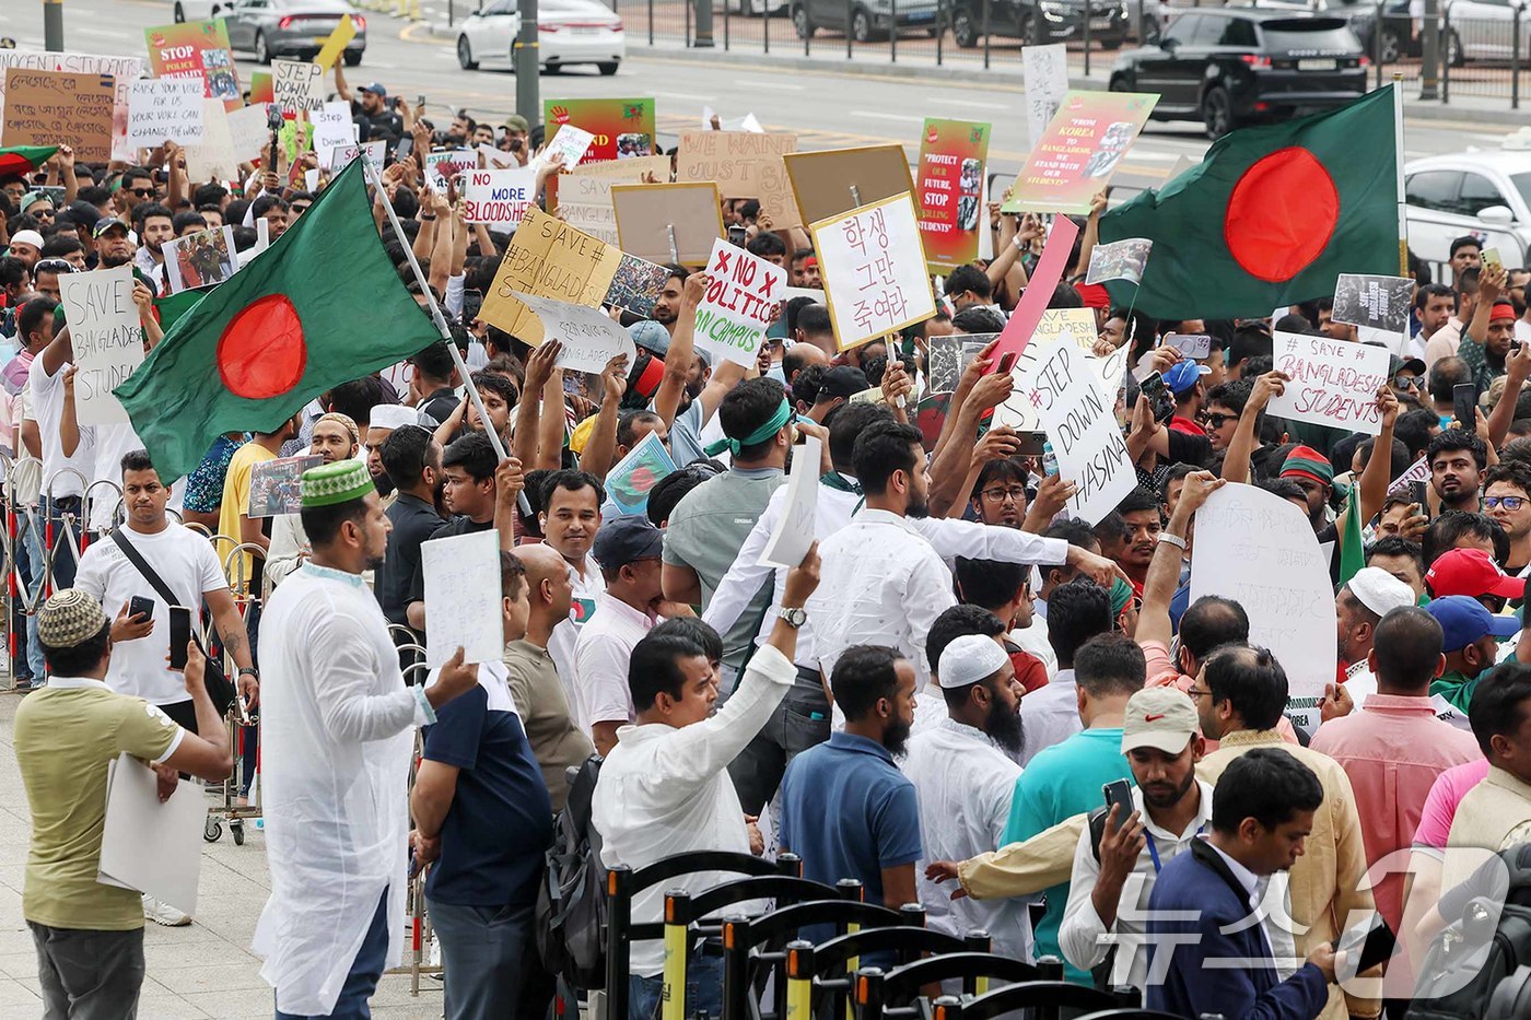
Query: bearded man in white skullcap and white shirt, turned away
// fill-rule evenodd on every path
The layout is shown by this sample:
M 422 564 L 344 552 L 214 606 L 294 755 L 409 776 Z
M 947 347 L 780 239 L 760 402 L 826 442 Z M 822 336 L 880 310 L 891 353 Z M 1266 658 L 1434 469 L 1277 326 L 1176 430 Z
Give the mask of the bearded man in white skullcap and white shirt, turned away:
M 1021 683 L 998 640 L 963 634 L 935 648 L 935 634 L 948 610 L 931 628 L 926 652 L 939 666 L 935 680 L 946 698 L 946 715 L 909 740 L 903 773 L 920 803 L 923 861 L 965 861 L 1000 845 L 1010 818 L 1010 795 L 1021 776 Z M 994 951 L 1029 960 L 1032 925 L 1024 899 L 978 902 L 951 899 L 920 875 L 920 902 L 926 925 L 961 937 L 984 930 Z

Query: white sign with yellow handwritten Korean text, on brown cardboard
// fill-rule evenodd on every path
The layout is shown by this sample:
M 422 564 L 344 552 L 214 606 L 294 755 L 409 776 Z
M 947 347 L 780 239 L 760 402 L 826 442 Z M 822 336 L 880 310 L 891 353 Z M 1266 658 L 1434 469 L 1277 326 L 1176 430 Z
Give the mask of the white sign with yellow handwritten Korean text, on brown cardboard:
M 908 193 L 810 227 L 841 351 L 935 314 Z

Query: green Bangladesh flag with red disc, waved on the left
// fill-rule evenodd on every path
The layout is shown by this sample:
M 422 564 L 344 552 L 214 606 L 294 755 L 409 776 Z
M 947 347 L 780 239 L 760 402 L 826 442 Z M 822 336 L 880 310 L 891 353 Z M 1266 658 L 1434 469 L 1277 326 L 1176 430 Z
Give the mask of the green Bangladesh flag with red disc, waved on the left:
M 332 386 L 439 338 L 383 250 L 354 159 L 112 392 L 159 473 L 179 478 L 220 433 L 276 429 Z

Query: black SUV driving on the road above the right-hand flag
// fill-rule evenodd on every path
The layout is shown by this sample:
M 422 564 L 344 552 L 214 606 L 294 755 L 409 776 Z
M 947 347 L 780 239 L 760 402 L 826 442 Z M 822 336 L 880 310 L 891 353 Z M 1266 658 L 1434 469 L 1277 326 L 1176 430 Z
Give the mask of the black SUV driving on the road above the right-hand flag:
M 1199 119 L 1208 138 L 1249 121 L 1344 106 L 1370 60 L 1344 18 L 1191 9 L 1153 46 L 1121 54 L 1113 92 L 1157 92 L 1153 118 Z

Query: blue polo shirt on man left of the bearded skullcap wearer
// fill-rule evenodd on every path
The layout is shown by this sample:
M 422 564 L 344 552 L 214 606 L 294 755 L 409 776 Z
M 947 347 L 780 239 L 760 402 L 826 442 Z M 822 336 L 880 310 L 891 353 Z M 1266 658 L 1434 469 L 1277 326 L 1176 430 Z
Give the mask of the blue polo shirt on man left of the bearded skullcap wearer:
M 831 734 L 793 758 L 781 803 L 781 845 L 802 858 L 807 879 L 860 879 L 865 901 L 880 905 L 882 870 L 920 859 L 914 784 L 873 740 Z

